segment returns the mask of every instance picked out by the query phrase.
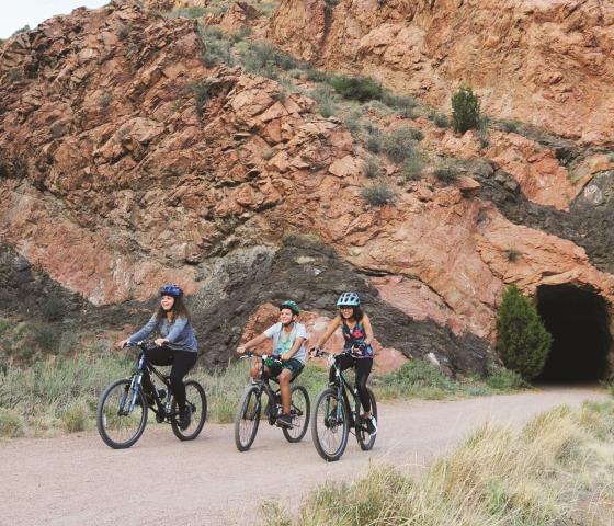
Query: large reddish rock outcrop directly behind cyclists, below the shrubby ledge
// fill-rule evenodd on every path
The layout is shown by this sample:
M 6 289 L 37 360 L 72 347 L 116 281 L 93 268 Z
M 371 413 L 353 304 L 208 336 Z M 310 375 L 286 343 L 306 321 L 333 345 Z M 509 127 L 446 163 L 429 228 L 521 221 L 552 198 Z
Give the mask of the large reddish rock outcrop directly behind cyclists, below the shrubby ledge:
M 484 176 L 409 183 L 394 206 L 369 207 L 365 152 L 339 121 L 240 68 L 207 69 L 201 50 L 193 21 L 127 4 L 11 39 L 0 56 L 4 242 L 95 305 L 180 283 L 211 364 L 226 363 L 254 311 L 285 298 L 330 318 L 356 289 L 384 347 L 432 352 L 451 373 L 494 359 L 505 283 L 571 283 L 612 305 L 612 276 L 583 249 L 509 220 L 501 188 L 518 196 L 531 176 L 487 163 Z M 606 188 L 582 198 L 596 203 L 599 190 L 610 203 Z M 297 232 L 318 241 L 288 243 Z

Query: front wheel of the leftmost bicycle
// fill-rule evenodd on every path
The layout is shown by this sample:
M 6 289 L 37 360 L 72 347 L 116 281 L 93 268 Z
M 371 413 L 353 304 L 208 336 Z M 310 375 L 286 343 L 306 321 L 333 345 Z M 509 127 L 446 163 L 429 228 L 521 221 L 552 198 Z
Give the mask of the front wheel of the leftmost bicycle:
M 136 443 L 147 424 L 147 400 L 143 389 L 135 392 L 129 379 L 111 384 L 100 397 L 96 426 L 100 437 L 113 449 Z

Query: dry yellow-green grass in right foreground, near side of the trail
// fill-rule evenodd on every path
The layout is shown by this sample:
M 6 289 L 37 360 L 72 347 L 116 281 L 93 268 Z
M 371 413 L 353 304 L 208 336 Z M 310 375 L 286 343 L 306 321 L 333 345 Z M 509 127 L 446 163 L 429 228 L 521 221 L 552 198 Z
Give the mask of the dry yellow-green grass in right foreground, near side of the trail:
M 558 408 L 516 433 L 485 425 L 421 479 L 373 466 L 312 491 L 292 518 L 262 506 L 264 524 L 366 526 L 609 525 L 614 499 L 614 403 Z

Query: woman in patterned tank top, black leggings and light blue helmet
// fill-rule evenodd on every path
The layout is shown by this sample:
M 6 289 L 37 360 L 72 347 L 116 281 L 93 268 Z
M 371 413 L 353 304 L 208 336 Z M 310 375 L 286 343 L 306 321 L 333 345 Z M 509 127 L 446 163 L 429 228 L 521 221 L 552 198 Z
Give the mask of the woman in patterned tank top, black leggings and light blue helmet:
M 354 367 L 356 369 L 356 390 L 364 409 L 362 418 L 365 420 L 368 433 L 377 433 L 377 422 L 371 414 L 371 399 L 366 389 L 366 380 L 373 367 L 373 329 L 368 316 L 361 309 L 361 300 L 356 293 L 343 293 L 337 300 L 339 316 L 327 327 L 325 333 L 315 345 L 320 348 L 341 327 L 343 339 L 343 353 L 337 357 L 341 370 Z M 329 381 L 334 381 L 334 368 L 329 371 Z

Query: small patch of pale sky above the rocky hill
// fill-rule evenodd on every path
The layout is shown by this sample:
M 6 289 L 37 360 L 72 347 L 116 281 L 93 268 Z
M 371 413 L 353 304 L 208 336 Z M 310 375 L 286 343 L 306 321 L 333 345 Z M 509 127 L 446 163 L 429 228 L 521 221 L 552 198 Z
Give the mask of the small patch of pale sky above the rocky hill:
M 8 38 L 25 24 L 30 28 L 55 14 L 68 14 L 75 8 L 100 8 L 110 0 L 0 0 L 0 38 Z

